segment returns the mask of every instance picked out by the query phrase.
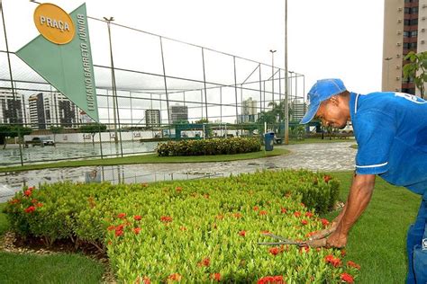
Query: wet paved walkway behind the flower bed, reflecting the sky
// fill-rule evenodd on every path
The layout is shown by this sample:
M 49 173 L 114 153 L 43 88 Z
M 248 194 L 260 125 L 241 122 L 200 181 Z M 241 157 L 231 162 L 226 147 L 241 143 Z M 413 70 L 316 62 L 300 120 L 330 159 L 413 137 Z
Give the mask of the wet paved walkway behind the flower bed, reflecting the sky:
M 312 171 L 347 171 L 354 169 L 356 142 L 276 146 L 291 151 L 288 155 L 216 163 L 126 164 L 45 169 L 19 173 L 0 173 L 0 202 L 8 200 L 23 186 L 44 182 L 156 182 L 253 173 L 263 169 L 308 169 Z

